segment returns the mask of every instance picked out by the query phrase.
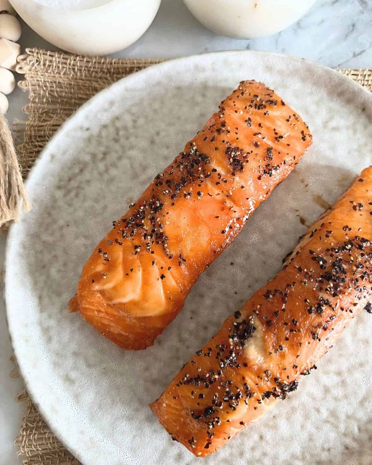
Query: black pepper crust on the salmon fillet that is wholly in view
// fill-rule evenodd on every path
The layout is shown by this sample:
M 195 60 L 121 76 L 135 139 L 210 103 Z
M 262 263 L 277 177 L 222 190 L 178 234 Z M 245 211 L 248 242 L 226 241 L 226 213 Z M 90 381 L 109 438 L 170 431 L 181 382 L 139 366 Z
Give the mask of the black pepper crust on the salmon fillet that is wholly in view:
M 227 103 L 230 104 L 231 102 L 232 108 L 234 108 L 236 107 L 236 101 L 242 98 L 247 98 L 248 95 L 251 99 L 244 107 L 247 114 L 250 114 L 250 111 L 254 109 L 255 111 L 262 112 L 263 115 L 269 115 L 270 109 L 275 108 L 279 101 L 275 96 L 274 91 L 265 86 L 262 86 L 263 91 L 261 97 L 259 97 L 258 94 L 251 95 L 249 85 L 254 84 L 255 82 L 256 81 L 254 80 L 241 81 L 238 89 L 235 90 L 230 97 L 221 102 L 218 113 L 219 124 L 216 125 L 214 123 L 207 127 L 208 131 L 214 129 L 218 136 L 222 137 L 225 135 L 225 138 L 222 138 L 222 144 L 225 146 L 225 155 L 228 159 L 231 169 L 230 174 L 232 177 L 236 176 L 237 173 L 244 171 L 245 164 L 249 163 L 250 157 L 255 154 L 254 149 L 259 149 L 261 143 L 265 146 L 265 143 L 262 141 L 261 132 L 259 131 L 255 132 L 254 136 L 257 136 L 260 142 L 254 141 L 253 150 L 240 148 L 238 144 L 239 137 L 236 138 L 235 143 L 231 140 L 230 132 L 233 129 L 227 127 L 225 120 Z M 248 88 L 245 87 L 247 84 Z M 280 100 L 280 103 L 282 106 L 285 106 L 283 100 Z M 234 113 L 238 114 L 238 110 L 234 110 Z M 248 127 L 252 126 L 251 116 L 244 116 Z M 297 115 L 290 114 L 287 118 L 287 122 L 291 120 L 298 121 Z M 262 127 L 261 123 L 260 127 Z M 262 130 L 264 131 L 264 127 Z M 201 133 L 206 134 L 206 128 L 203 128 Z M 236 134 L 238 135 L 238 132 L 236 132 Z M 305 134 L 304 131 L 302 131 L 301 134 L 303 142 L 306 141 L 306 137 L 311 138 L 310 133 Z M 277 136 L 275 141 L 280 142 L 283 135 L 278 134 L 276 131 L 275 135 Z M 203 142 L 209 143 L 211 146 L 209 155 L 200 152 L 197 144 L 195 142 L 191 142 L 187 145 L 187 150 L 181 152 L 175 158 L 169 169 L 166 169 L 164 172 L 159 173 L 155 177 L 152 183 L 153 195 L 150 199 L 143 200 L 139 205 L 131 204 L 130 207 L 132 210 L 134 207 L 136 208 L 134 208 L 130 215 L 123 217 L 121 220 L 113 221 L 113 228 L 118 231 L 119 238 L 115 238 L 115 242 L 111 241 L 108 245 L 115 244 L 117 246 L 122 246 L 123 241 L 136 241 L 133 243 L 133 252 L 135 255 L 142 251 L 154 254 L 154 245 L 161 245 L 168 258 L 173 258 L 174 251 L 169 249 L 169 238 L 164 234 L 164 220 L 165 215 L 169 214 L 169 211 L 175 205 L 174 201 L 181 195 L 185 199 L 191 199 L 193 197 L 194 188 L 200 188 L 209 178 L 214 179 L 215 185 L 223 185 L 227 183 L 227 179 L 225 179 L 218 170 L 211 166 L 210 157 L 214 150 L 218 150 L 218 147 L 214 147 L 215 137 L 215 135 L 212 135 L 212 137 L 208 140 L 208 136 L 205 135 L 203 138 Z M 273 173 L 280 168 L 280 165 L 272 162 L 273 147 L 262 147 L 261 151 L 264 151 L 264 155 L 262 156 L 263 163 L 259 166 L 259 180 L 265 176 L 271 177 Z M 286 163 L 286 160 L 282 163 Z M 244 185 L 242 185 L 241 188 L 244 189 Z M 199 201 L 202 201 L 203 193 L 198 191 L 196 197 Z M 227 195 L 227 197 L 229 196 Z M 170 203 L 169 201 L 166 201 L 166 199 L 169 200 L 169 198 L 171 200 Z M 169 206 L 169 211 L 167 212 L 164 212 L 165 204 L 167 207 Z M 248 216 L 243 218 L 242 225 L 247 218 Z M 226 233 L 231 239 L 233 239 L 236 235 L 234 228 L 221 230 L 221 234 Z M 226 244 L 229 242 L 229 237 L 226 237 L 225 239 Z M 141 244 L 138 243 L 139 241 L 141 241 Z M 110 261 L 109 250 L 109 248 L 105 250 L 105 256 L 102 256 L 105 261 Z M 186 262 L 186 258 L 179 257 L 178 265 L 182 266 L 184 262 Z

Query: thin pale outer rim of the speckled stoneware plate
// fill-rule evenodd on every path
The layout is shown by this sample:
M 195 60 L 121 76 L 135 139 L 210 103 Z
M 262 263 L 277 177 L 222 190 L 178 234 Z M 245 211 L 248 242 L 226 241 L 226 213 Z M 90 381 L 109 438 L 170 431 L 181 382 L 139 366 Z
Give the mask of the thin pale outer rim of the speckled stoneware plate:
M 53 134 L 50 140 L 45 144 L 41 153 L 37 157 L 35 164 L 32 166 L 30 173 L 27 176 L 27 179 L 25 181 L 26 192 L 28 191 L 29 185 L 34 182 L 34 178 L 37 175 L 37 171 L 38 171 L 37 168 L 40 166 L 42 167 L 42 165 L 45 163 L 46 156 L 48 155 L 50 148 L 55 144 L 56 140 L 58 140 L 58 138 L 62 136 L 65 130 L 68 130 L 71 127 L 73 127 L 75 119 L 79 118 L 79 115 L 81 113 L 84 113 L 90 107 L 94 107 L 96 103 L 100 102 L 100 100 L 105 97 L 106 94 L 109 95 L 114 87 L 128 85 L 130 84 L 131 81 L 135 81 L 136 79 L 138 79 L 138 76 L 140 76 L 141 78 L 141 76 L 153 73 L 154 68 L 156 68 L 156 70 L 160 70 L 161 68 L 163 68 L 162 72 L 166 73 L 167 68 L 171 68 L 175 65 L 177 66 L 181 64 L 182 62 L 188 63 L 190 60 L 198 60 L 203 57 L 210 57 L 210 59 L 212 60 L 215 57 L 218 60 L 219 57 L 228 56 L 228 55 L 257 55 L 257 57 L 274 56 L 274 57 L 279 57 L 282 60 L 291 60 L 297 63 L 305 63 L 315 69 L 319 69 L 319 70 L 325 71 L 326 73 L 329 73 L 330 76 L 333 76 L 334 78 L 336 78 L 336 80 L 338 79 L 338 80 L 343 80 L 344 82 L 348 82 L 348 85 L 353 86 L 357 92 L 359 92 L 360 94 L 363 94 L 364 96 L 368 96 L 368 99 L 372 103 L 372 92 L 367 90 L 365 87 L 363 87 L 362 85 L 360 85 L 353 79 L 345 76 L 344 74 L 341 74 L 336 69 L 330 68 L 321 63 L 308 60 L 305 58 L 301 58 L 295 55 L 270 52 L 270 51 L 260 51 L 260 50 L 226 50 L 226 51 L 194 54 L 194 55 L 180 57 L 180 58 L 166 59 L 163 62 L 151 65 L 145 69 L 129 74 L 128 76 L 122 77 L 118 81 L 113 82 L 106 88 L 99 91 L 96 95 L 92 96 L 89 100 L 84 102 L 69 118 L 67 118 L 67 120 L 64 121 L 64 123 L 58 128 L 55 134 Z M 12 349 L 14 352 L 14 356 L 17 362 L 18 369 L 24 381 L 24 385 L 27 390 L 27 393 L 29 397 L 31 398 L 31 400 L 34 402 L 35 406 L 37 407 L 37 410 L 40 413 L 41 417 L 43 418 L 45 423 L 49 426 L 53 434 L 55 434 L 58 440 L 66 447 L 66 449 L 70 451 L 70 453 L 72 453 L 79 461 L 84 463 L 83 460 L 89 457 L 83 456 L 84 449 L 82 448 L 77 449 L 76 446 L 72 444 L 67 445 L 69 444 L 69 442 L 71 442 L 69 441 L 69 437 L 65 434 L 66 432 L 62 432 L 58 429 L 58 426 L 56 425 L 56 422 L 54 420 L 53 413 L 48 412 L 48 408 L 44 408 L 43 403 L 42 403 L 42 396 L 40 396 L 37 393 L 37 390 L 35 390 L 32 387 L 32 383 L 30 384 L 28 375 L 26 374 L 27 373 L 27 362 L 25 362 L 23 365 L 22 356 L 21 357 L 18 356 L 19 351 L 21 352 L 22 350 L 20 348 L 20 344 L 22 345 L 23 342 L 20 342 L 21 340 L 17 341 L 17 334 L 16 334 L 17 324 L 15 321 L 12 321 L 13 312 L 11 310 L 11 305 L 12 305 L 10 302 L 11 292 L 9 292 L 9 289 L 12 287 L 12 284 L 11 284 L 12 279 L 13 279 L 13 282 L 15 280 L 15 277 L 12 277 L 12 276 L 16 273 L 16 271 L 12 269 L 12 266 L 10 263 L 10 255 L 11 255 L 11 249 L 14 247 L 14 245 L 17 242 L 17 237 L 15 236 L 16 233 L 14 231 L 16 229 L 17 224 L 21 223 L 23 217 L 26 214 L 27 213 L 22 212 L 18 222 L 11 224 L 9 231 L 8 231 L 8 237 L 7 237 L 6 248 L 5 248 L 4 299 L 5 299 L 5 308 L 6 308 L 6 320 L 8 324 L 8 331 L 9 331 L 9 335 L 11 339 Z M 57 433 L 55 433 L 55 431 L 57 431 Z M 75 441 L 76 445 L 77 445 L 77 442 L 78 441 Z

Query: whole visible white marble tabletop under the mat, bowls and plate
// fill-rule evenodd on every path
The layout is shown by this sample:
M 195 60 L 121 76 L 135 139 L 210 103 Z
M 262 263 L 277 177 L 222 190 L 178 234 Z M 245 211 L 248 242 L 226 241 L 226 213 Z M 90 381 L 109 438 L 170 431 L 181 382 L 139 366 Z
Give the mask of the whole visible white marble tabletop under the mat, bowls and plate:
M 270 37 L 234 40 L 218 37 L 201 26 L 182 0 L 163 0 L 154 23 L 145 35 L 117 57 L 168 58 L 216 50 L 267 50 L 297 55 L 330 67 L 372 67 L 372 1 L 318 0 L 293 26 Z M 23 25 L 22 48 L 55 48 Z M 26 94 L 17 89 L 10 96 L 9 120 L 23 119 Z M 6 235 L 0 236 L 0 266 L 4 260 Z M 20 379 L 10 378 L 13 368 L 5 308 L 0 296 L 0 464 L 21 463 L 13 440 L 21 424 L 24 406 L 14 401 L 22 388 Z

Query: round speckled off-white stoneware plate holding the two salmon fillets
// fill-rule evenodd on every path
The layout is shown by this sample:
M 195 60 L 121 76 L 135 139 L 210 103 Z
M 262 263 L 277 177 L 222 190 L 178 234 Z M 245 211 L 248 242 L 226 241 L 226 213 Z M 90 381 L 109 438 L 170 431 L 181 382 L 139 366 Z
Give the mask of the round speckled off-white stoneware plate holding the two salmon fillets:
M 141 352 L 67 312 L 84 261 L 113 219 L 183 149 L 242 79 L 275 89 L 314 144 Z M 266 283 L 351 179 L 372 163 L 372 94 L 335 71 L 260 52 L 182 58 L 131 75 L 84 105 L 33 168 L 31 213 L 12 226 L 6 299 L 27 389 L 84 464 L 371 463 L 372 318 L 363 312 L 286 401 L 206 459 L 173 442 L 148 404 L 224 318 Z

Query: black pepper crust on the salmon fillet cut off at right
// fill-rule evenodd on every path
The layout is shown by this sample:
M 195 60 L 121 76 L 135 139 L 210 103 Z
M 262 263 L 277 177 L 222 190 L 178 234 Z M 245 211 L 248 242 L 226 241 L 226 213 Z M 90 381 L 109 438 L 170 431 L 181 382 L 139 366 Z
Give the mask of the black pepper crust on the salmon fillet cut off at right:
M 350 204 L 353 206 L 357 205 L 357 209 L 353 208 L 353 211 L 361 211 L 363 208 L 360 202 L 350 202 Z M 370 205 L 372 205 L 372 201 Z M 310 315 L 314 315 L 313 324 L 309 326 L 309 335 L 301 333 L 301 337 L 305 342 L 309 337 L 312 340 L 320 342 L 323 337 L 321 333 L 323 332 L 325 334 L 324 337 L 327 337 L 329 324 L 337 318 L 340 312 L 353 313 L 353 306 L 357 306 L 360 301 L 365 302 L 365 300 L 369 299 L 372 295 L 371 241 L 359 235 L 350 235 L 352 228 L 348 225 L 344 225 L 341 227 L 338 226 L 337 232 L 343 231 L 345 240 L 334 244 L 333 235 L 336 232 L 333 230 L 334 228 L 335 226 L 332 222 L 323 222 L 320 224 L 319 228 L 312 229 L 311 234 L 308 235 L 311 239 L 315 234 L 318 234 L 318 238 L 321 242 L 327 239 L 331 240 L 329 241 L 330 245 L 325 244 L 321 252 L 315 252 L 305 244 L 305 254 L 307 253 L 309 255 L 310 262 L 313 263 L 312 267 L 304 269 L 302 266 L 297 265 L 296 257 L 298 253 L 294 254 L 288 262 L 288 264 L 293 262 L 293 266 L 297 269 L 298 275 L 301 277 L 300 285 L 311 286 L 317 291 L 316 300 L 304 300 L 306 312 Z M 352 269 L 351 273 L 350 269 Z M 339 294 L 347 291 L 349 288 L 353 288 L 356 291 L 355 302 L 352 304 L 352 307 L 343 308 L 335 304 Z M 275 318 L 280 315 L 280 312 L 286 312 L 286 303 L 289 293 L 295 289 L 295 283 L 287 283 L 283 289 L 270 290 L 267 288 L 262 292 L 262 297 L 267 302 L 274 302 L 274 304 L 279 303 L 279 305 L 274 305 L 277 309 L 273 310 L 270 319 L 263 317 L 264 323 L 267 326 L 271 326 Z M 368 313 L 372 313 L 371 301 L 368 300 L 363 308 Z M 256 315 L 259 315 L 258 309 L 253 311 Z M 325 318 L 324 314 L 327 315 Z M 291 381 L 289 381 L 289 376 L 287 376 L 285 380 L 278 377 L 272 378 L 269 370 L 266 369 L 263 372 L 263 376 L 260 376 L 260 379 L 266 382 L 271 380 L 271 382 L 273 381 L 273 385 L 271 385 L 271 389 L 264 391 L 261 396 L 257 396 L 257 392 L 255 392 L 254 388 L 250 387 L 247 383 L 244 384 L 246 389 L 242 392 L 234 382 L 227 380 L 223 382 L 224 386 L 226 386 L 226 391 L 224 391 L 224 397 L 221 399 L 220 392 L 215 388 L 218 386 L 219 378 L 225 369 L 242 368 L 242 364 L 239 362 L 241 350 L 244 348 L 246 341 L 253 336 L 256 330 L 253 317 L 246 317 L 240 321 L 241 317 L 241 311 L 236 311 L 234 313 L 234 321 L 232 321 L 230 325 L 231 334 L 228 336 L 229 347 L 224 344 L 218 344 L 215 348 L 209 347 L 204 353 L 203 350 L 196 352 L 196 360 L 201 356 L 217 358 L 220 362 L 220 370 L 218 370 L 217 373 L 215 370 L 210 370 L 207 374 L 200 374 L 197 377 L 190 377 L 185 373 L 182 380 L 177 384 L 177 386 L 200 386 L 201 383 L 204 383 L 204 388 L 213 390 L 212 405 L 205 407 L 204 410 L 192 410 L 190 412 L 193 420 L 204 424 L 206 427 L 208 441 L 204 445 L 204 448 L 209 448 L 210 445 L 213 444 L 214 430 L 221 424 L 220 414 L 218 415 L 218 412 L 223 412 L 226 408 L 234 411 L 240 401 L 244 400 L 248 403 L 248 399 L 255 396 L 258 404 L 270 398 L 285 399 L 288 393 L 297 389 L 298 375 L 309 375 L 312 369 L 317 368 L 315 364 L 312 364 L 300 371 L 299 366 L 292 363 L 292 369 L 296 371 L 296 378 Z M 290 341 L 291 334 L 298 331 L 296 328 L 298 324 L 296 318 L 289 318 L 289 320 L 284 321 L 283 324 L 288 327 L 287 336 L 283 343 L 279 344 L 278 347 L 274 349 L 274 352 L 283 350 L 283 345 L 285 345 L 287 341 Z M 298 344 L 299 352 L 302 345 L 303 343 Z M 297 355 L 297 358 L 298 357 L 299 355 Z M 196 360 L 192 360 L 191 363 L 198 364 Z M 243 367 L 246 366 L 247 364 L 243 364 Z M 290 368 L 290 366 L 288 366 L 288 368 Z M 287 370 L 287 367 L 283 367 L 282 370 Z M 220 383 L 220 386 L 221 385 L 222 383 Z M 195 391 L 191 390 L 191 396 L 196 394 Z M 257 407 L 254 407 L 254 409 L 256 408 Z M 240 424 L 244 425 L 243 422 L 240 422 Z M 196 438 L 192 437 L 189 439 L 189 444 L 192 448 L 196 447 L 195 443 Z

